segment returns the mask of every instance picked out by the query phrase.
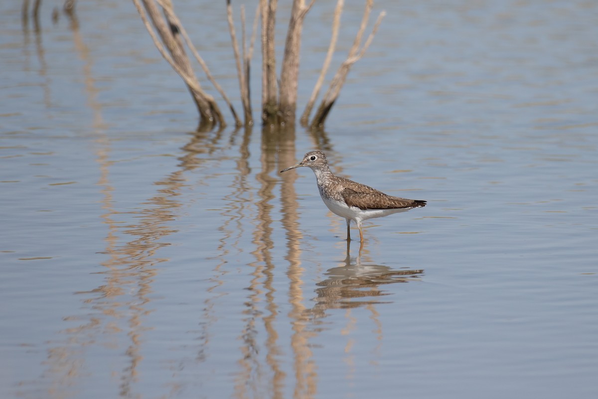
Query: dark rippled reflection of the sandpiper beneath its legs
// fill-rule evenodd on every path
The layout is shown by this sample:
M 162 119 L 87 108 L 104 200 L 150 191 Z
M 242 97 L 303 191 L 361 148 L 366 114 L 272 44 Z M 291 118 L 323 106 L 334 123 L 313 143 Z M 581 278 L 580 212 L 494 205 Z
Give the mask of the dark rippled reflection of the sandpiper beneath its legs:
M 350 309 L 374 303 L 392 303 L 380 297 L 390 293 L 383 285 L 420 281 L 422 269 L 395 270 L 382 264 L 373 264 L 366 258 L 362 261 L 361 253 L 356 257 L 350 256 L 351 242 L 347 241 L 347 253 L 342 266 L 332 267 L 325 273 L 327 279 L 317 283 L 317 304 L 312 312 L 324 316 L 327 309 Z

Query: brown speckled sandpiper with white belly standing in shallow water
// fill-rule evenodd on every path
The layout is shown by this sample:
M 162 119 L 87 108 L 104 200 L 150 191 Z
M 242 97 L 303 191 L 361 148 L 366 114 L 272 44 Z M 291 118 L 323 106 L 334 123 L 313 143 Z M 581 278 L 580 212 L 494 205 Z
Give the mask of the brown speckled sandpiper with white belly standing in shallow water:
M 426 206 L 426 202 L 422 200 L 389 196 L 365 184 L 335 176 L 328 167 L 328 160 L 322 151 L 309 151 L 300 163 L 282 169 L 280 173 L 300 166 L 307 166 L 313 170 L 320 196 L 326 206 L 347 221 L 347 240 L 351 239 L 349 231 L 351 221 L 357 225 L 359 239 L 363 243 L 362 221 Z

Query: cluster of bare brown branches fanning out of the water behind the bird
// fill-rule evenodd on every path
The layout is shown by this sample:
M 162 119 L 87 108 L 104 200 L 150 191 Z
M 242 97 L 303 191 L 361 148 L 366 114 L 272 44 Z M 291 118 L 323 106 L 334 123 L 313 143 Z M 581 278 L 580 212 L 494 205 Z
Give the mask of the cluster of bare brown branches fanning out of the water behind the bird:
M 38 8 L 41 0 L 34 0 Z M 67 4 L 74 5 L 76 0 L 65 0 L 65 7 Z M 152 38 L 155 46 L 160 51 L 164 59 L 175 69 L 176 73 L 184 80 L 191 96 L 196 103 L 197 109 L 200 113 L 199 129 L 212 129 L 215 126 L 225 126 L 224 117 L 218 108 L 212 96 L 205 92 L 200 86 L 185 47 L 187 47 L 197 62 L 202 66 L 208 80 L 221 94 L 222 98 L 227 103 L 233 114 L 236 126 L 241 126 L 237 113 L 228 99 L 222 87 L 216 82 L 208 69 L 205 61 L 199 55 L 199 51 L 191 42 L 185 28 L 182 26 L 181 20 L 176 16 L 173 9 L 172 0 L 132 0 L 135 7 L 141 16 L 142 22 Z M 23 9 L 28 8 L 29 0 L 23 0 Z M 299 56 L 301 50 L 301 35 L 303 32 L 303 23 L 307 13 L 312 9 L 315 0 L 293 0 L 291 8 L 291 17 L 289 19 L 289 27 L 285 39 L 285 49 L 282 56 L 282 65 L 280 68 L 280 81 L 276 77 L 276 54 L 275 54 L 275 23 L 277 0 L 260 0 L 256 10 L 251 39 L 248 43 L 248 32 L 246 31 L 245 7 L 240 8 L 241 19 L 241 41 L 239 44 L 237 33 L 234 26 L 233 7 L 231 0 L 227 0 L 227 22 L 228 31 L 231 36 L 231 43 L 233 47 L 234 60 L 237 69 L 237 78 L 239 80 L 240 98 L 243 105 L 243 114 L 245 117 L 246 126 L 253 124 L 252 106 L 251 106 L 251 84 L 250 71 L 251 59 L 254 53 L 255 38 L 257 36 L 258 19 L 261 17 L 261 51 L 262 51 L 262 113 L 261 118 L 264 124 L 289 124 L 295 123 L 295 112 L 297 109 L 297 87 L 299 78 Z M 161 11 L 158 8 L 161 7 Z M 337 0 L 332 19 L 332 34 L 328 47 L 324 64 L 322 65 L 321 73 L 313 88 L 312 95 L 307 102 L 306 108 L 301 116 L 301 124 L 304 126 L 309 122 L 310 113 L 319 96 L 324 83 L 325 76 L 328 72 L 332 56 L 337 45 L 338 32 L 340 29 L 340 16 L 343 11 L 344 0 Z M 340 95 L 340 90 L 343 87 L 347 75 L 352 65 L 364 56 L 374 36 L 380 26 L 380 22 L 385 16 L 385 12 L 380 13 L 374 27 L 368 36 L 365 43 L 362 45 L 364 33 L 368 25 L 370 13 L 373 7 L 373 0 L 365 1 L 365 10 L 362 17 L 361 25 L 355 35 L 353 45 L 347 54 L 346 60 L 339 66 L 337 72 L 329 84 L 327 92 L 322 98 L 322 102 L 316 111 L 313 120 L 310 123 L 312 127 L 322 126 L 324 120 L 334 102 Z M 26 11 L 24 11 L 26 14 Z M 35 14 L 35 11 L 34 11 Z M 26 25 L 25 17 L 23 17 L 23 25 Z

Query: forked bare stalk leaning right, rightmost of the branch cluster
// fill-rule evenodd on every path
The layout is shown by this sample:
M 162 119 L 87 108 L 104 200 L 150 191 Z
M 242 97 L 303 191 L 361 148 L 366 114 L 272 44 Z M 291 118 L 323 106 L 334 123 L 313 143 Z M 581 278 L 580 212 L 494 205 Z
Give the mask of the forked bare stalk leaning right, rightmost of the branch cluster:
M 376 23 L 374 24 L 374 28 L 370 33 L 370 36 L 368 36 L 368 39 L 365 42 L 364 46 L 361 48 L 361 50 L 359 50 L 359 45 L 361 44 L 361 39 L 363 37 L 365 27 L 367 26 L 367 22 L 370 17 L 372 5 L 373 0 L 368 0 L 365 4 L 364 17 L 361 20 L 361 26 L 359 26 L 359 31 L 355 36 L 355 41 L 353 41 L 353 45 L 349 50 L 349 55 L 347 56 L 347 59 L 344 60 L 344 62 L 338 68 L 338 71 L 332 78 L 330 86 L 328 87 L 328 90 L 324 95 L 324 98 L 322 99 L 320 106 L 318 107 L 318 111 L 316 111 L 316 115 L 313 117 L 312 123 L 310 124 L 312 127 L 321 127 L 324 125 L 324 120 L 328 116 L 328 112 L 330 112 L 332 105 L 334 105 L 334 102 L 338 99 L 338 95 L 340 94 L 340 90 L 342 89 L 343 84 L 347 79 L 347 75 L 349 74 L 351 66 L 359 59 L 361 59 L 361 57 L 365 54 L 365 50 L 367 50 L 367 48 L 371 44 L 371 41 L 374 39 L 374 35 L 376 35 L 376 32 L 378 31 L 382 19 L 386 16 L 385 11 L 382 11 L 382 13 L 380 13 L 378 19 L 376 20 Z

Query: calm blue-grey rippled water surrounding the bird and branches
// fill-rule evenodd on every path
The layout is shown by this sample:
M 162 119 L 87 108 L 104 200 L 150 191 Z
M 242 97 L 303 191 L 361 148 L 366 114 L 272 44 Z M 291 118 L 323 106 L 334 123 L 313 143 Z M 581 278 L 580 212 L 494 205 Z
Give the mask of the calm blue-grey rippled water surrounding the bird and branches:
M 598 394 L 593 2 L 379 1 L 325 131 L 283 135 L 193 132 L 128 2 L 76 26 L 42 4 L 39 32 L 1 7 L 1 397 Z M 176 7 L 235 96 L 224 7 Z M 365 223 L 359 255 L 313 173 L 277 173 L 313 148 L 428 206 Z

